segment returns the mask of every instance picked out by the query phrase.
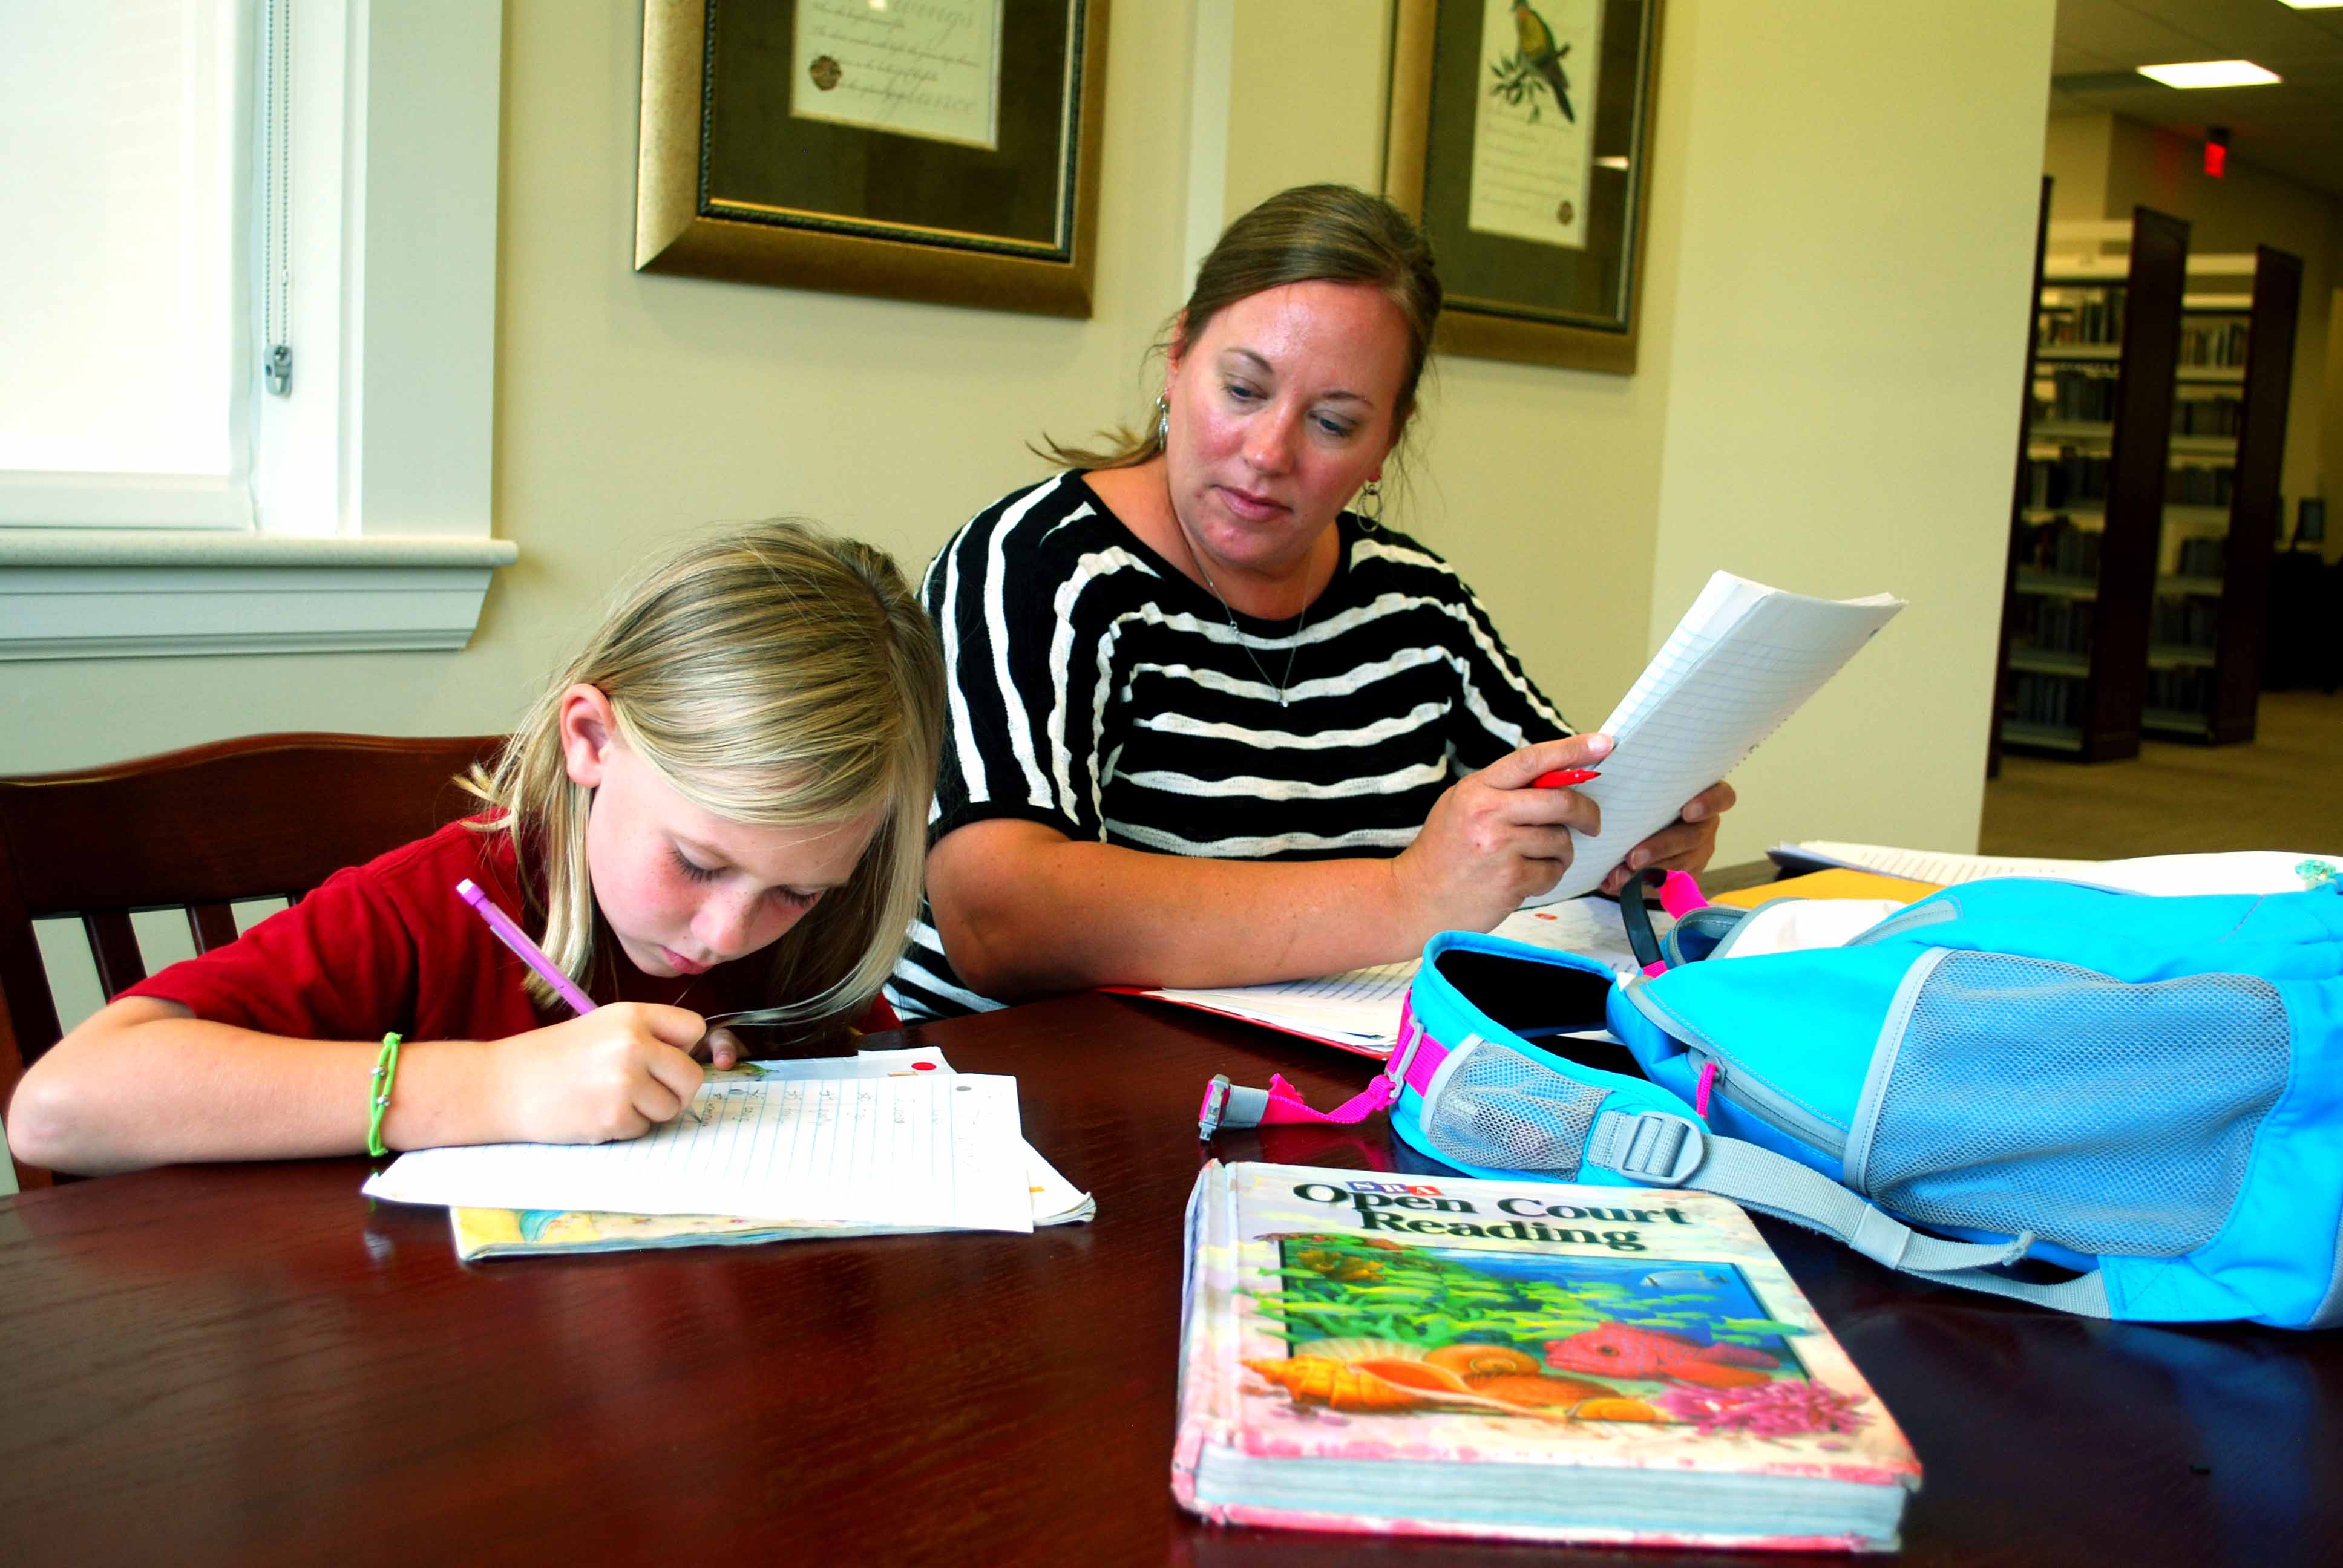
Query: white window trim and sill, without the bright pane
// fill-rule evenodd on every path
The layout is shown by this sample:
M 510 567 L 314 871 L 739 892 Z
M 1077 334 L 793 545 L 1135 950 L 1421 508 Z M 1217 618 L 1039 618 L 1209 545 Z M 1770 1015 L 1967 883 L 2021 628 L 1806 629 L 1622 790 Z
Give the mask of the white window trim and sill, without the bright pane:
M 248 401 L 258 527 L 164 497 L 0 527 L 0 661 L 457 649 L 518 558 L 490 534 L 504 5 L 295 0 L 291 38 L 295 396 Z

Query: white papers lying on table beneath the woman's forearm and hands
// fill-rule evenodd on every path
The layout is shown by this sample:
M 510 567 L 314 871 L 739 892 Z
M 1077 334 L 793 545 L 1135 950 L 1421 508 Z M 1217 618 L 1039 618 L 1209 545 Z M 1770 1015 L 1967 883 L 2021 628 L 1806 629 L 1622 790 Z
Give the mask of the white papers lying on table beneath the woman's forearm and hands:
M 1652 930 L 1666 933 L 1668 916 L 1652 914 Z M 1567 905 L 1542 909 L 1516 909 L 1504 916 L 1495 935 L 1530 942 L 1549 952 L 1570 952 L 1607 963 L 1621 975 L 1638 970 L 1635 952 L 1626 945 L 1626 926 L 1619 923 L 1619 905 L 1607 898 L 1577 898 Z M 1249 1024 L 1284 1029 L 1324 1045 L 1354 1050 L 1361 1057 L 1387 1057 L 1399 1041 L 1399 1003 L 1415 982 L 1420 963 L 1373 963 L 1368 968 L 1326 975 L 1324 980 L 1289 980 L 1284 984 L 1232 984 L 1209 989 L 1157 989 L 1136 991 L 1176 1001 L 1183 1008 L 1202 1008 L 1242 1017 Z

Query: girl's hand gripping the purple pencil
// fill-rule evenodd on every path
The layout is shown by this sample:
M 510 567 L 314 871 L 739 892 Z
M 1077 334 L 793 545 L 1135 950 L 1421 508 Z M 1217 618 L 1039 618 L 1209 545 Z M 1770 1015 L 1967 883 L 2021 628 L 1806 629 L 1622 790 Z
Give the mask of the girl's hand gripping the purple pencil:
M 698 1013 L 621 1001 L 497 1041 L 492 1080 L 511 1137 L 609 1144 L 675 1120 L 705 1078 L 691 1059 L 705 1036 Z

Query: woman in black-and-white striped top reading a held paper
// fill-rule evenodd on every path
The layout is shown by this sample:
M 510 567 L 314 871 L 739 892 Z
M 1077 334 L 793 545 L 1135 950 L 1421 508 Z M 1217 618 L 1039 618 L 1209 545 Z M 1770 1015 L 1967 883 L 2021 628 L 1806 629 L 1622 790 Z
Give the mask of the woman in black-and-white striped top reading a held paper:
M 1572 736 L 1439 555 L 1343 511 L 1380 495 L 1439 307 L 1387 202 L 1270 197 L 1197 270 L 1153 427 L 1052 443 L 1061 473 L 937 553 L 951 734 L 904 1017 L 1406 959 L 1598 832 L 1530 785 L 1610 738 Z M 1699 795 L 1605 888 L 1706 865 L 1731 802 Z

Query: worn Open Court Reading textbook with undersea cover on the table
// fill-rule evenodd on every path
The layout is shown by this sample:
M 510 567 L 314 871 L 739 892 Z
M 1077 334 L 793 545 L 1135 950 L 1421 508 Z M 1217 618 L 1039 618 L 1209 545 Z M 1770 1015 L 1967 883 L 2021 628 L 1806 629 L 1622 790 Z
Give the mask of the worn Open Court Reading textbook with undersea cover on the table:
M 1172 1488 L 1225 1523 L 1884 1552 L 1919 1460 L 1731 1202 L 1209 1165 Z

